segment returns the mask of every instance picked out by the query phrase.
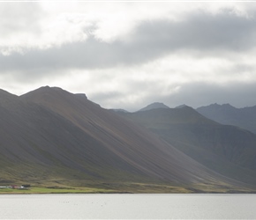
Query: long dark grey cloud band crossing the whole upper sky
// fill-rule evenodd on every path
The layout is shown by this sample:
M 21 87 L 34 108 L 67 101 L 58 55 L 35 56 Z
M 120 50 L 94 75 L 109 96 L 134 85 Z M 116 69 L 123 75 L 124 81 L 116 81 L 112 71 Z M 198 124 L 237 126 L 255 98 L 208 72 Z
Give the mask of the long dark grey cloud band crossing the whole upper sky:
M 256 45 L 256 18 L 225 10 L 218 14 L 197 11 L 184 20 L 140 23 L 126 40 L 105 42 L 90 35 L 86 41 L 48 49 L 24 49 L 23 54 L 0 55 L 3 71 L 19 70 L 39 77 L 67 69 L 104 69 L 149 62 L 177 50 L 201 55 L 250 50 Z M 35 74 L 36 73 L 36 74 Z

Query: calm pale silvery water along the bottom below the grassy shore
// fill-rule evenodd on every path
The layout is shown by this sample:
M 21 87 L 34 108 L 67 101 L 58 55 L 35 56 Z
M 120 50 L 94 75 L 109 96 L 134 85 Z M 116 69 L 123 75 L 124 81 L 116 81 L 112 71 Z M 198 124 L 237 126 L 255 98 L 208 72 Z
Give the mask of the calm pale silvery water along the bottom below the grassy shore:
M 2 194 L 0 219 L 256 219 L 256 194 Z

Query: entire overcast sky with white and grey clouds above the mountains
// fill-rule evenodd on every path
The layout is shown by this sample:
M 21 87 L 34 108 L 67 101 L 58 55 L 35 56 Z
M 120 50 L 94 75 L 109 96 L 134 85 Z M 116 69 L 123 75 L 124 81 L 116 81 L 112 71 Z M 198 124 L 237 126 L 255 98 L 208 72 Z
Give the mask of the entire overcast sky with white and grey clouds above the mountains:
M 0 88 L 104 108 L 256 105 L 256 2 L 0 1 Z

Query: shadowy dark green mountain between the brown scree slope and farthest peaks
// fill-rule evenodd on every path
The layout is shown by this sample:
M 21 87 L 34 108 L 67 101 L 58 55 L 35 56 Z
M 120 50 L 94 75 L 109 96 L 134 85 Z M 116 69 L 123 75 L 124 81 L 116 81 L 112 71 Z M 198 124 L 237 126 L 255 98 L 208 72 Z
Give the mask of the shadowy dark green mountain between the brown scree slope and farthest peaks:
M 256 135 L 251 132 L 207 119 L 188 106 L 120 115 L 162 136 L 208 169 L 255 186 Z

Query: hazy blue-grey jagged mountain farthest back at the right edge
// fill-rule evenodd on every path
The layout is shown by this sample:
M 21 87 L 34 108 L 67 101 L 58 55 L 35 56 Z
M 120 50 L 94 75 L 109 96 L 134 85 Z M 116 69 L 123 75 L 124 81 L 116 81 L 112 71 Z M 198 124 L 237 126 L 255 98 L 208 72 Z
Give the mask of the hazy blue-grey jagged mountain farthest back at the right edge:
M 245 128 L 256 134 L 256 106 L 236 108 L 230 104 L 201 106 L 196 109 L 209 119 Z

